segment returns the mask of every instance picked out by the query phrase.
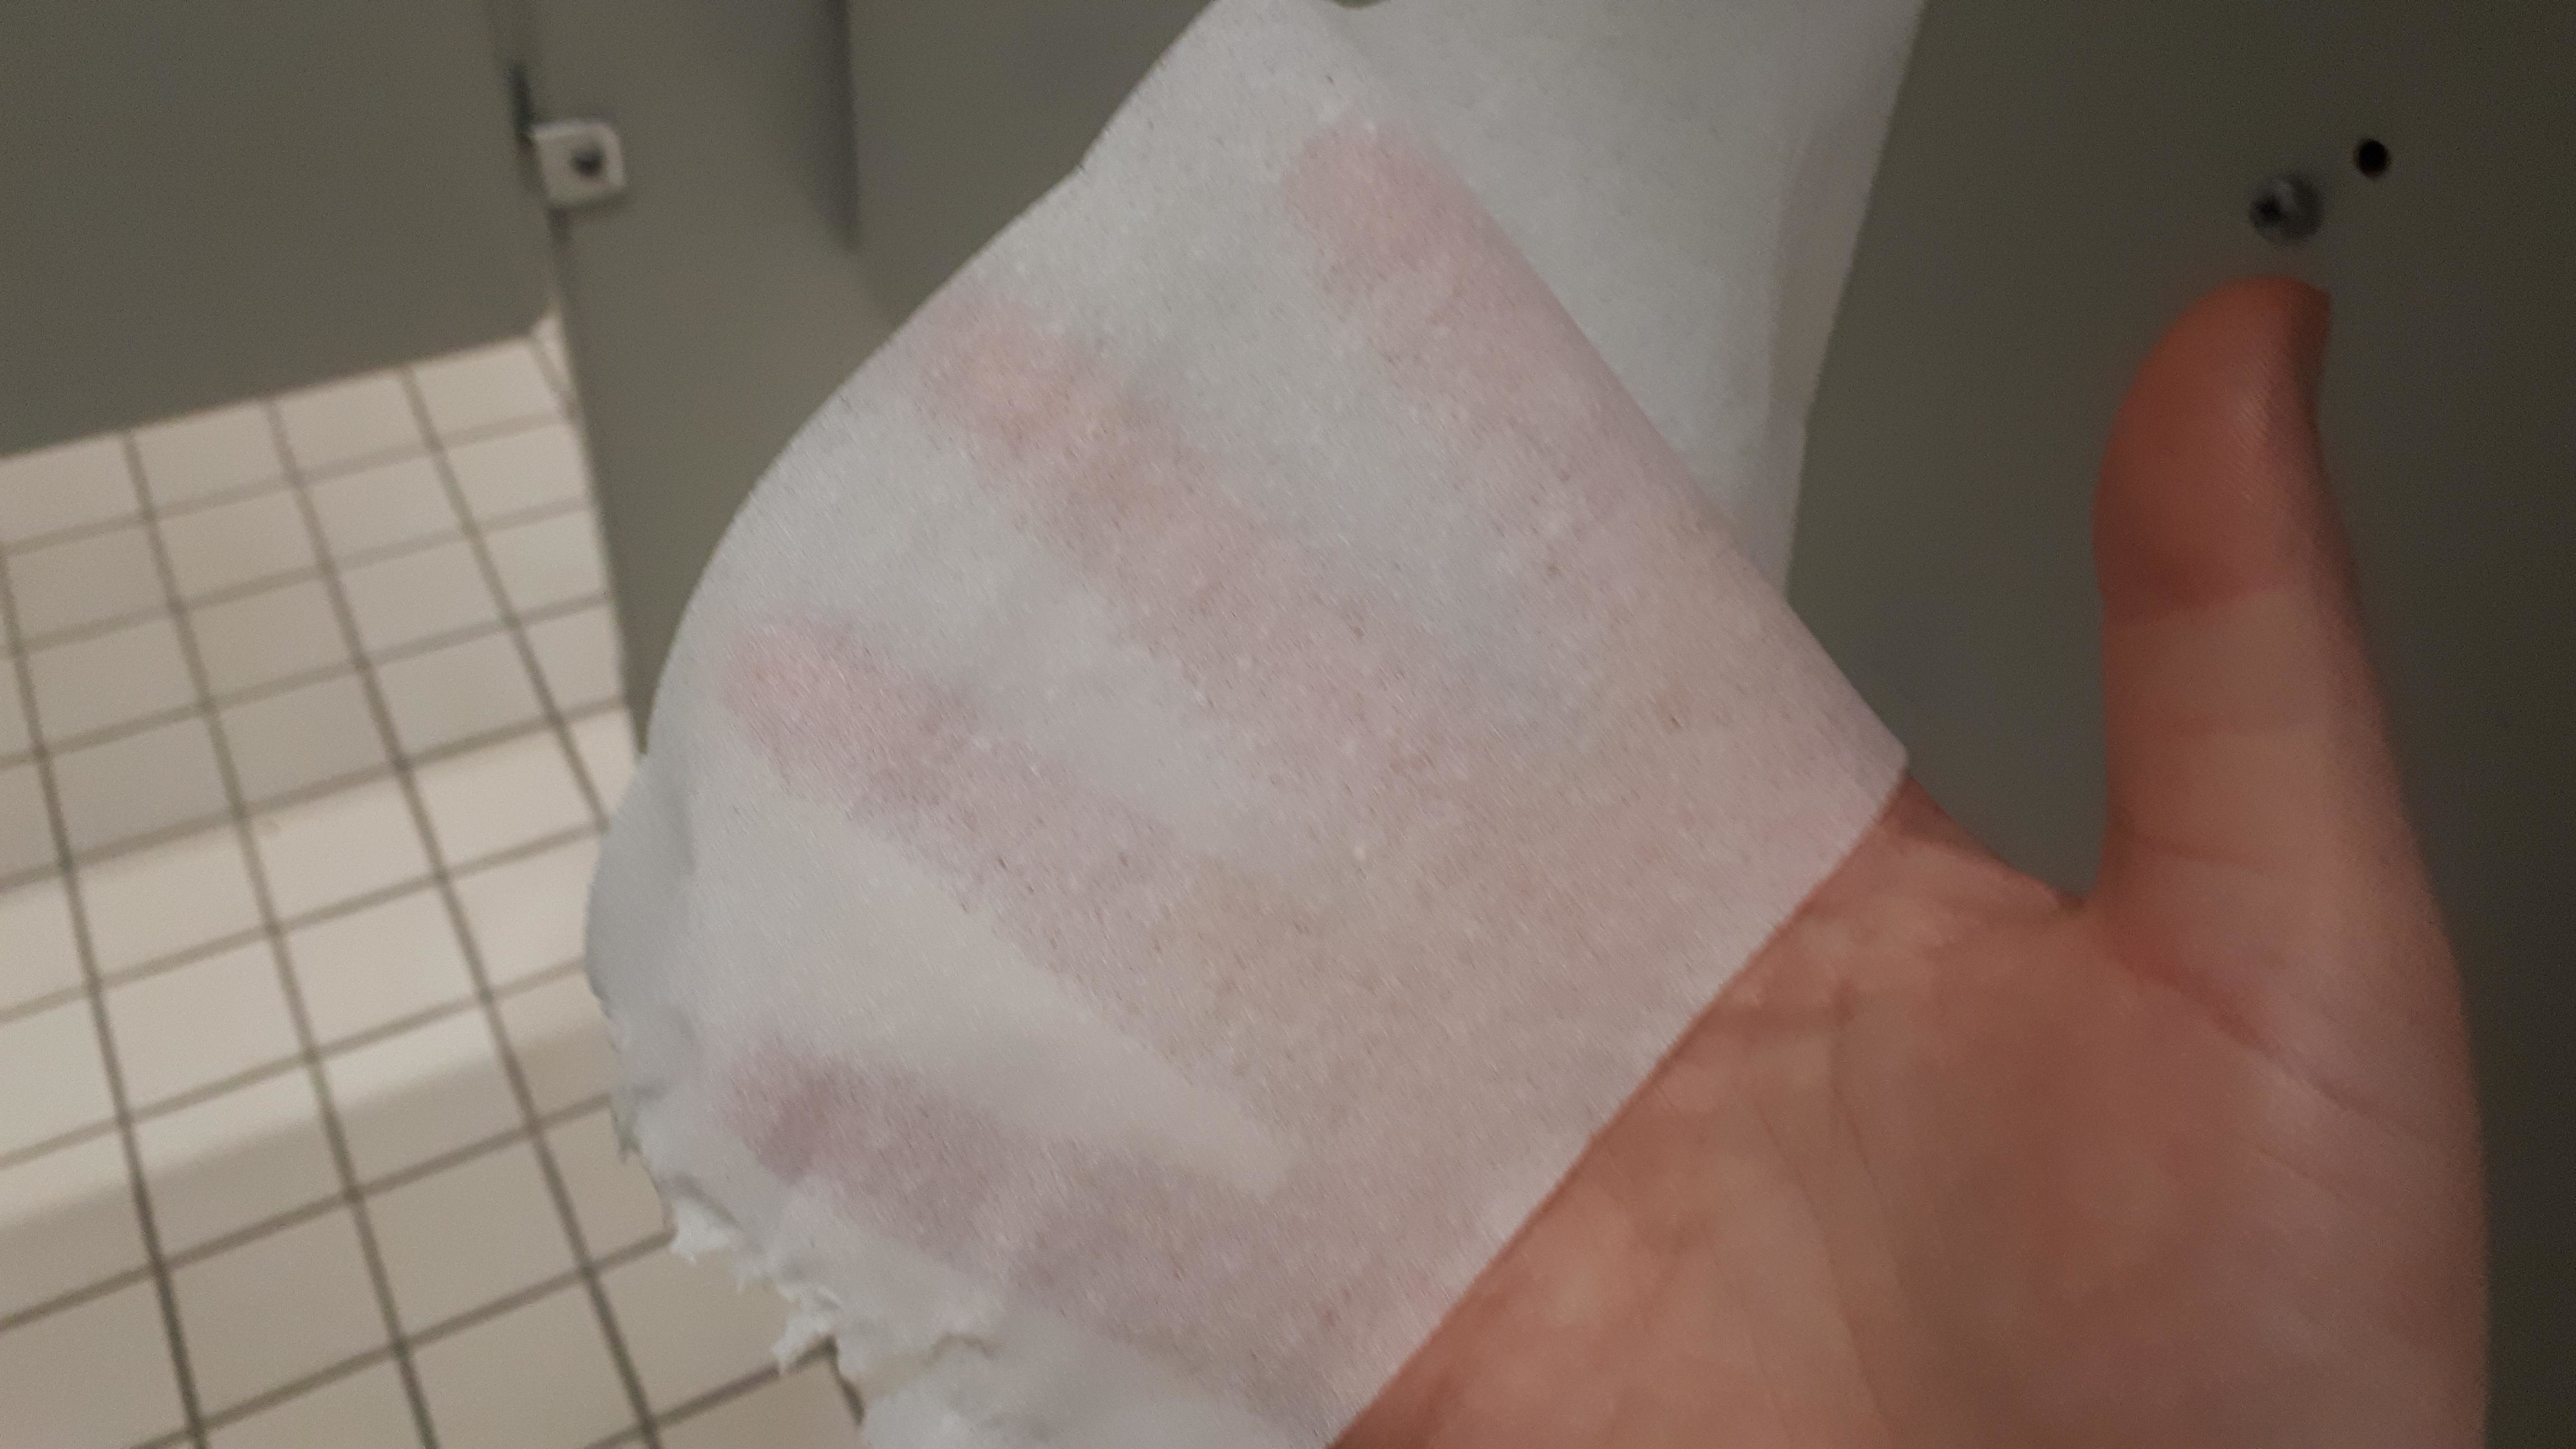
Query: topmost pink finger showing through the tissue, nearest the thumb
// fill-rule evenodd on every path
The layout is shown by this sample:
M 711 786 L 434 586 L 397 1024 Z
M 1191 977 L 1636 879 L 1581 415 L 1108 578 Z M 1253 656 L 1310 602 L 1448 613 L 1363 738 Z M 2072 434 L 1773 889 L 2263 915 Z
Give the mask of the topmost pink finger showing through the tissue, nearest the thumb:
M 1455 459 L 1448 485 L 1535 565 L 1533 616 L 1584 639 L 1628 701 L 1705 706 L 1672 665 L 1741 632 L 1765 585 L 1473 191 L 1406 134 L 1345 121 L 1291 168 L 1288 211 L 1324 297 Z

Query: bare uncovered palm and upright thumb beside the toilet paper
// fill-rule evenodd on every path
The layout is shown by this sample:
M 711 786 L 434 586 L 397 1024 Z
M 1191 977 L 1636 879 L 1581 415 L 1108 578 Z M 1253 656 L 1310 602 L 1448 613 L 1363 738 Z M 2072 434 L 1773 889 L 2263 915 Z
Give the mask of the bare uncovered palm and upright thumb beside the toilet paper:
M 2120 410 L 2097 890 L 1906 784 L 1342 1449 L 2481 1439 L 2458 969 L 2324 338 L 2321 294 L 2233 284 Z

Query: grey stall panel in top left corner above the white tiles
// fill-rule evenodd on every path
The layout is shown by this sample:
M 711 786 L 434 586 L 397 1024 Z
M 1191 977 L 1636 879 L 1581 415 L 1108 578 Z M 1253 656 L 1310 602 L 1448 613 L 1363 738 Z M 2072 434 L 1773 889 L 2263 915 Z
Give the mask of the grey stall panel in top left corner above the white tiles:
M 0 454 L 528 330 L 484 0 L 0 3 Z

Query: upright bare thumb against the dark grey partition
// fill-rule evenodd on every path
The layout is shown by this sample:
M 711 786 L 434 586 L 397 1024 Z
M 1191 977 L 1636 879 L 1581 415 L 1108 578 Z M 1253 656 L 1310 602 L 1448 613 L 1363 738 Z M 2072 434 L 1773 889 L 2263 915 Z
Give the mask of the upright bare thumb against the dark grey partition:
M 2414 874 L 2316 441 L 2326 322 L 2298 281 L 2223 286 L 2112 425 L 2094 500 L 2112 910 L 2244 938 L 2336 884 Z

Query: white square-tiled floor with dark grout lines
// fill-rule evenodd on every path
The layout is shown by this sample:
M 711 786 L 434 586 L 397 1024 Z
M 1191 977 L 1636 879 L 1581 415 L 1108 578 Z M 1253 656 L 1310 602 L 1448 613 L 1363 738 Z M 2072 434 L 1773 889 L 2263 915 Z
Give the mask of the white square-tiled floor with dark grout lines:
M 0 459 L 0 1441 L 853 1441 L 616 1150 L 567 397 L 541 335 Z

